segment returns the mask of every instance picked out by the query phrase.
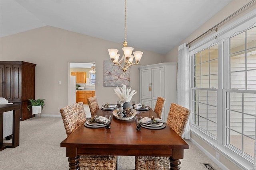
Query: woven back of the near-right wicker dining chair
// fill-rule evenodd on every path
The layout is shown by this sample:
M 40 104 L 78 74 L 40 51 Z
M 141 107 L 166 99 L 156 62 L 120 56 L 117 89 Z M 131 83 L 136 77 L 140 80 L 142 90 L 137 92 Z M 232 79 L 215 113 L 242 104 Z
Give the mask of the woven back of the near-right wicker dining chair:
M 179 106 L 178 104 L 171 104 L 166 123 L 172 128 L 172 130 L 178 133 L 182 139 L 186 124 L 188 122 L 189 114 L 189 109 Z

